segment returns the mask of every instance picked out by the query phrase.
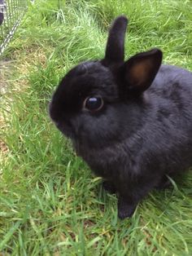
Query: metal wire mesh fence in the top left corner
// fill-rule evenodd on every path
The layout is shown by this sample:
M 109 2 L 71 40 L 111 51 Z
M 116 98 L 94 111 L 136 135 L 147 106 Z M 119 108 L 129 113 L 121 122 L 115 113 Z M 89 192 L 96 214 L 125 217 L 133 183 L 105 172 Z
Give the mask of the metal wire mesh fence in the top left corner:
M 0 0 L 0 55 L 11 41 L 27 7 L 28 0 Z

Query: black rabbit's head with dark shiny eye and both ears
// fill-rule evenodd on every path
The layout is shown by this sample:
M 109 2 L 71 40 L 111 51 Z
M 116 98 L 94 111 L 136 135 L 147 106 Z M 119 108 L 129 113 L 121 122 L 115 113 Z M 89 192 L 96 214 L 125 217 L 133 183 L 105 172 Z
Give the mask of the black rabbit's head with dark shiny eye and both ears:
M 117 17 L 111 25 L 104 59 L 72 68 L 53 95 L 50 117 L 71 139 L 102 147 L 123 136 L 120 124 L 124 116 L 134 119 L 136 103 L 159 70 L 159 49 L 139 53 L 124 62 L 127 24 L 126 17 Z

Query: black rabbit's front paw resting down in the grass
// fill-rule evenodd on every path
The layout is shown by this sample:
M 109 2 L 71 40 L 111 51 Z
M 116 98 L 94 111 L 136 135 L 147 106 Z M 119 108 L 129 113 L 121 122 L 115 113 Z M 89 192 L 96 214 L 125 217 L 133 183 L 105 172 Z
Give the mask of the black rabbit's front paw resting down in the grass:
M 121 219 L 131 217 L 137 207 L 135 203 L 129 203 L 120 197 L 118 200 L 118 217 Z

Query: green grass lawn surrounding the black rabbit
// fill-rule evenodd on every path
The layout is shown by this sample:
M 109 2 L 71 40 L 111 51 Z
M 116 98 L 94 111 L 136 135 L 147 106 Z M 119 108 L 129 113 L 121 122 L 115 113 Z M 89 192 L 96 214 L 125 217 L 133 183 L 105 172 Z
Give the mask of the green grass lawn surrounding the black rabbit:
M 103 58 L 109 24 L 122 13 L 127 57 L 158 46 L 164 62 L 192 70 L 191 1 L 36 1 L 4 55 L 12 70 L 0 95 L 0 254 L 192 255 L 191 173 L 120 221 L 116 196 L 48 117 L 60 78 Z

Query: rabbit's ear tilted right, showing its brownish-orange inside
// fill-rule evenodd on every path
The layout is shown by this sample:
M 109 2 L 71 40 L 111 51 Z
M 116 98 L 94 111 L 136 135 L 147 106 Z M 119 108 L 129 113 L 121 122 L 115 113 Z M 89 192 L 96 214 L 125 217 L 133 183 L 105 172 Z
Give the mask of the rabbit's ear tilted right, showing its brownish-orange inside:
M 163 58 L 159 49 L 153 49 L 134 55 L 124 63 L 124 82 L 129 90 L 142 92 L 146 90 L 155 79 Z

